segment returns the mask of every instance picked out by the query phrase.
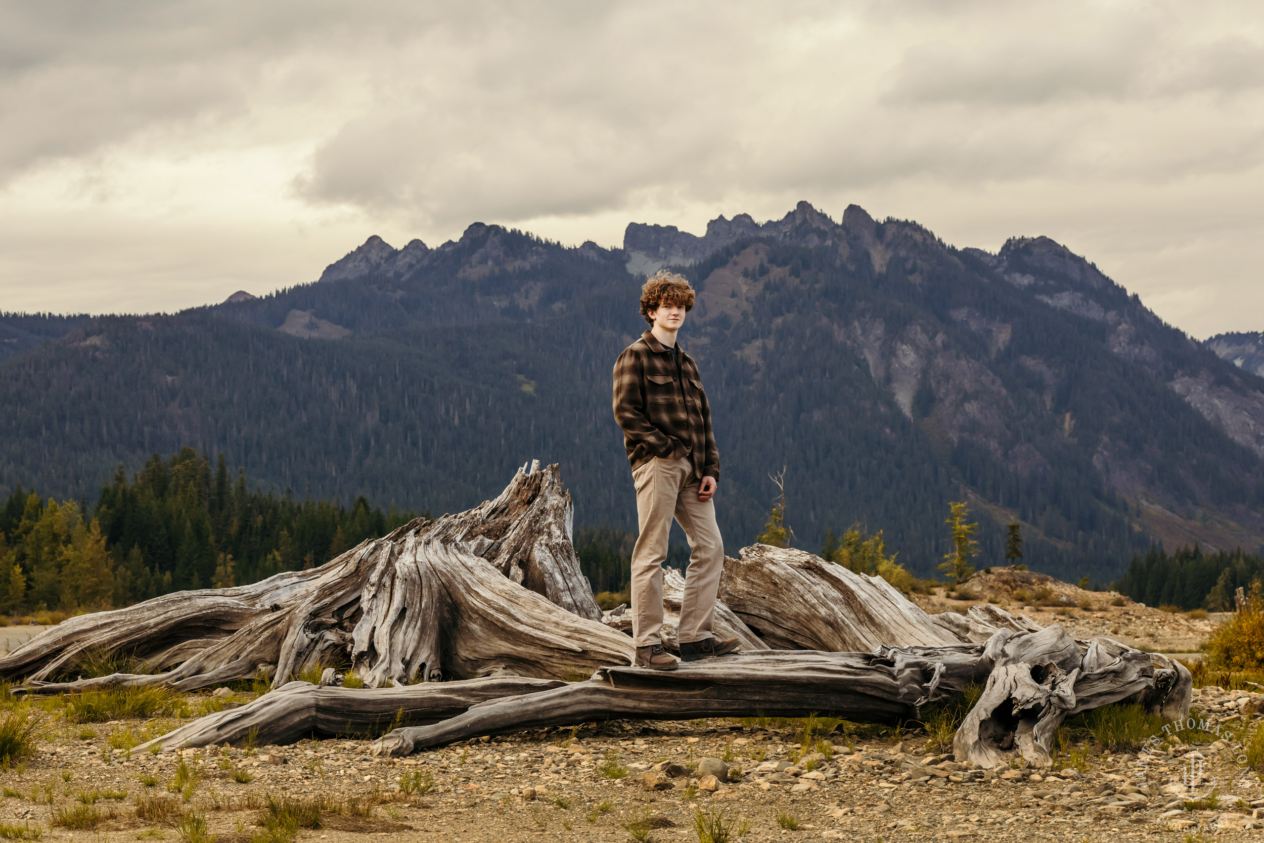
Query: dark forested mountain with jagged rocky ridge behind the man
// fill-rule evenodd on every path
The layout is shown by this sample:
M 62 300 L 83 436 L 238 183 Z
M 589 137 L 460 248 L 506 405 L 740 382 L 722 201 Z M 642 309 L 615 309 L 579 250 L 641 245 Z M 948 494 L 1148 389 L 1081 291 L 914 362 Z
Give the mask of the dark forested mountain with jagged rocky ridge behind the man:
M 1060 245 L 996 255 L 806 203 L 624 250 L 471 225 L 435 249 L 370 238 L 312 284 L 174 316 L 100 317 L 0 363 L 0 480 L 95 497 L 121 460 L 191 445 L 279 488 L 456 511 L 531 458 L 576 526 L 635 526 L 609 409 L 643 330 L 638 277 L 699 288 L 681 344 L 705 379 L 729 550 L 786 466 L 796 543 L 884 530 L 923 574 L 968 498 L 980 565 L 1020 518 L 1034 567 L 1106 581 L 1162 538 L 1256 550 L 1264 380 L 1165 326 Z M 327 339 L 320 339 L 327 337 Z M 335 339 L 336 337 L 336 339 Z

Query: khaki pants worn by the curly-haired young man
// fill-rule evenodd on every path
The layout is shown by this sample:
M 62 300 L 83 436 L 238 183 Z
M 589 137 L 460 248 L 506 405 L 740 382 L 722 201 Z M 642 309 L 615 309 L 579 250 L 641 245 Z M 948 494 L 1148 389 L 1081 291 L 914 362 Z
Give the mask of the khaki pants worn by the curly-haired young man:
M 700 480 L 688 458 L 653 458 L 632 471 L 641 535 L 632 549 L 632 641 L 637 647 L 662 643 L 662 562 L 675 518 L 689 540 L 689 570 L 680 608 L 680 643 L 712 637 L 712 616 L 724 542 L 715 525 L 715 504 L 698 499 Z

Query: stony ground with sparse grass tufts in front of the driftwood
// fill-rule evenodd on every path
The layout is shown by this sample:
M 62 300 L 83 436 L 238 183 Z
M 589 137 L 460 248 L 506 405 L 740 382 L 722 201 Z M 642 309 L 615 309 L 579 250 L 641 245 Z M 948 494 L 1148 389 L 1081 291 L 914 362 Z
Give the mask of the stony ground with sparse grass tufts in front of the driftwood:
M 348 739 L 130 755 L 111 748 L 110 737 L 142 724 L 118 722 L 66 728 L 35 758 L 0 773 L 0 824 L 39 829 L 47 839 L 177 839 L 185 813 L 205 816 L 221 842 L 248 843 L 263 833 L 257 823 L 267 798 L 289 796 L 331 808 L 321 828 L 297 833 L 331 842 L 364 834 L 696 840 L 699 810 L 729 823 L 731 839 L 751 842 L 1186 839 L 1200 832 L 1254 839 L 1264 828 L 1264 791 L 1241 766 L 1235 736 L 1254 723 L 1264 696 L 1207 688 L 1194 705 L 1202 724 L 1227 739 L 1168 724 L 1154 752 L 1068 749 L 1053 771 L 971 768 L 920 733 L 899 741 L 834 733 L 804 752 L 796 725 L 776 722 L 612 722 L 407 758 L 375 758 L 368 741 Z M 96 736 L 85 739 L 90 731 Z M 144 804 L 155 799 L 174 813 L 147 818 Z M 97 811 L 95 828 L 58 825 L 87 804 Z

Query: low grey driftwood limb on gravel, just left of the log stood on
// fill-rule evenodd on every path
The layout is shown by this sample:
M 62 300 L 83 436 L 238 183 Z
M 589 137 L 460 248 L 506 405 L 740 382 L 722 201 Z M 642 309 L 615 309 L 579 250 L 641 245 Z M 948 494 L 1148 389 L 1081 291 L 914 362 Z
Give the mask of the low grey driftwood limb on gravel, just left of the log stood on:
M 332 672 L 330 669 L 327 672 Z M 163 749 L 293 743 L 307 737 L 377 736 L 398 725 L 437 723 L 469 707 L 565 686 L 560 680 L 493 676 L 401 688 L 350 689 L 292 681 L 249 705 L 216 712 L 135 747 Z

